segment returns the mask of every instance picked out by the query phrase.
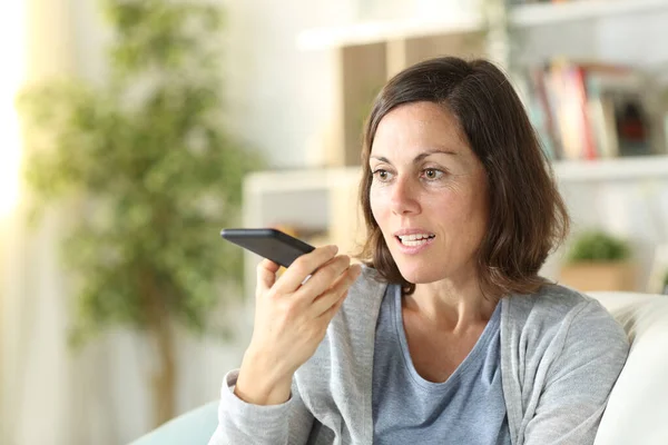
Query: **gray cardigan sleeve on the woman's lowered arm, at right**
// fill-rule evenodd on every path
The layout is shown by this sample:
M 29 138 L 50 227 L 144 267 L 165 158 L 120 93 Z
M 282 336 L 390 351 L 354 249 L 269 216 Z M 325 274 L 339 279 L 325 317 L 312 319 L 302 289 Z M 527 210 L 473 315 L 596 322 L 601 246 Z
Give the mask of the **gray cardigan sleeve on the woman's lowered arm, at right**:
M 629 350 L 626 333 L 596 300 L 572 318 L 542 385 L 525 445 L 593 444 L 608 397 Z

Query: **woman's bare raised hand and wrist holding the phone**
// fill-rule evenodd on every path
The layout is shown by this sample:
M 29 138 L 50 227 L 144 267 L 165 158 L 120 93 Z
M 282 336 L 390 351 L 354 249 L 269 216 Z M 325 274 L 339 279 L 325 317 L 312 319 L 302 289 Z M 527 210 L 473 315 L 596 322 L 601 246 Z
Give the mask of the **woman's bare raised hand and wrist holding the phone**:
M 315 353 L 361 273 L 337 250 L 316 248 L 278 279 L 278 265 L 268 259 L 258 265 L 255 327 L 235 386 L 237 397 L 256 405 L 289 398 L 295 370 Z

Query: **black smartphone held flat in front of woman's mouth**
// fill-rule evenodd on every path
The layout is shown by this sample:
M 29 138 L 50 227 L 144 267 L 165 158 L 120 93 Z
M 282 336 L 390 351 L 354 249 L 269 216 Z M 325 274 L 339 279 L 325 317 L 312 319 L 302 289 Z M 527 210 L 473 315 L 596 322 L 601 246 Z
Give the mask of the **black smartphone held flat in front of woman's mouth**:
M 277 229 L 223 229 L 220 236 L 261 257 L 288 267 L 315 247 Z

